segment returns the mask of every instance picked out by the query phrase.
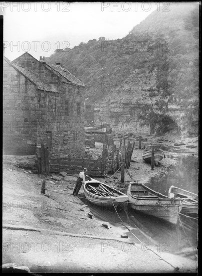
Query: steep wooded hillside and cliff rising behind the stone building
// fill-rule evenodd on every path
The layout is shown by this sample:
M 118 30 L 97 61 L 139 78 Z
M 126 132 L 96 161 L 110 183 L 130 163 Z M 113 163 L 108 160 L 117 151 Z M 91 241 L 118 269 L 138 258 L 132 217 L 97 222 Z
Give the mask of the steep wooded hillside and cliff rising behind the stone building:
M 86 85 L 95 121 L 114 131 L 197 135 L 197 3 L 170 3 L 123 39 L 90 40 L 47 58 Z

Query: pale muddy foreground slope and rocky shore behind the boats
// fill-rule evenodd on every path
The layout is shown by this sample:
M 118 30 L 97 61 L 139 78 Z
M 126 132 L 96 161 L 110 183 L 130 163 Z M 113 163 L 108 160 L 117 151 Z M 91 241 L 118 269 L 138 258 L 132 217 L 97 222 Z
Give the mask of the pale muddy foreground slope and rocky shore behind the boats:
M 154 144 L 149 139 L 147 137 L 145 143 Z M 165 173 L 167 167 L 174 165 L 176 160 L 173 157 L 177 154 L 187 152 L 197 155 L 196 141 L 196 138 L 190 139 L 180 146 L 174 146 L 174 143 L 180 144 L 180 141 L 155 141 L 169 148 L 165 151 L 166 158 L 153 171 L 141 159 L 142 150 L 136 147 L 132 156 L 134 162 L 128 173 L 125 170 L 125 184 L 120 183 L 119 172 L 101 181 L 118 188 L 127 187 L 132 179 L 145 183 L 151 176 Z M 90 151 L 96 156 L 101 150 L 102 145 L 96 143 L 96 148 Z M 21 161 L 32 164 L 32 157 L 29 158 L 4 157 L 3 264 L 24 265 L 31 272 L 196 271 L 196 262 L 190 259 L 181 256 L 173 258 L 170 253 L 156 255 L 138 249 L 134 244 L 128 245 L 127 239 L 121 238 L 123 230 L 92 215 L 89 206 L 82 202 L 82 197 L 85 197 L 83 188 L 79 197 L 72 195 L 76 175 L 62 173 L 45 177 L 33 174 L 29 166 L 23 169 L 13 164 Z M 12 166 L 8 166 L 11 163 L 8 160 L 13 160 Z M 46 195 L 41 194 L 44 179 Z M 103 227 L 103 223 L 108 228 Z M 114 247 L 115 244 L 120 250 Z M 123 249 L 126 246 L 129 250 Z

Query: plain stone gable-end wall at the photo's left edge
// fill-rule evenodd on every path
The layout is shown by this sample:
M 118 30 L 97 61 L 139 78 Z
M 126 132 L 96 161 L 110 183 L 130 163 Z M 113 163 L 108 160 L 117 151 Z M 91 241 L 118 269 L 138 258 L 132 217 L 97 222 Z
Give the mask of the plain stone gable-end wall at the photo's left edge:
M 4 154 L 33 155 L 37 145 L 35 86 L 4 61 Z

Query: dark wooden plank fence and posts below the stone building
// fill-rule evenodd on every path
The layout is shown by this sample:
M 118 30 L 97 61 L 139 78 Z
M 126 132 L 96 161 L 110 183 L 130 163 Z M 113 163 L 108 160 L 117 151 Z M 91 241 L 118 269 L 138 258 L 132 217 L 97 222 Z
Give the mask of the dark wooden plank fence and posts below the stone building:
M 125 140 L 120 142 L 120 147 L 116 149 L 116 145 L 107 148 L 103 145 L 102 157 L 95 159 L 83 158 L 57 158 L 50 157 L 46 144 L 37 146 L 38 172 L 39 174 L 60 173 L 62 171 L 68 174 L 78 174 L 83 168 L 87 168 L 88 175 L 104 177 L 106 173 L 115 173 L 121 166 L 121 182 L 124 182 L 124 167 L 130 167 L 130 161 L 133 153 L 135 142 L 131 145 L 128 140 L 127 147 Z M 109 152 L 108 152 L 109 151 Z

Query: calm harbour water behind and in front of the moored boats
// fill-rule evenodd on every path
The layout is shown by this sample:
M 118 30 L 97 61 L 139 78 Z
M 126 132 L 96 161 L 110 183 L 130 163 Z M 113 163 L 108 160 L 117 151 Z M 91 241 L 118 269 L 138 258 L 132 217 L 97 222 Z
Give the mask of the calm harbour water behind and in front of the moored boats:
M 181 156 L 178 158 L 178 165 L 167 175 L 159 179 L 153 178 L 146 185 L 164 195 L 168 195 L 168 189 L 171 185 L 197 193 L 197 166 L 198 162 L 195 157 Z M 102 208 L 91 204 L 86 199 L 82 200 L 85 204 L 88 204 L 91 212 L 97 218 L 115 225 L 122 233 L 128 235 L 128 240 L 138 242 L 128 229 L 122 225 L 113 208 Z M 127 215 L 121 208 L 117 208 L 117 211 L 131 232 L 143 243 L 149 242 L 151 249 L 173 254 L 187 251 L 192 259 L 195 257 L 193 249 L 197 246 L 197 220 L 180 215 L 181 226 L 179 221 L 176 225 L 173 225 L 156 217 L 132 210 L 129 205 Z M 140 244 L 139 246 L 141 247 Z

